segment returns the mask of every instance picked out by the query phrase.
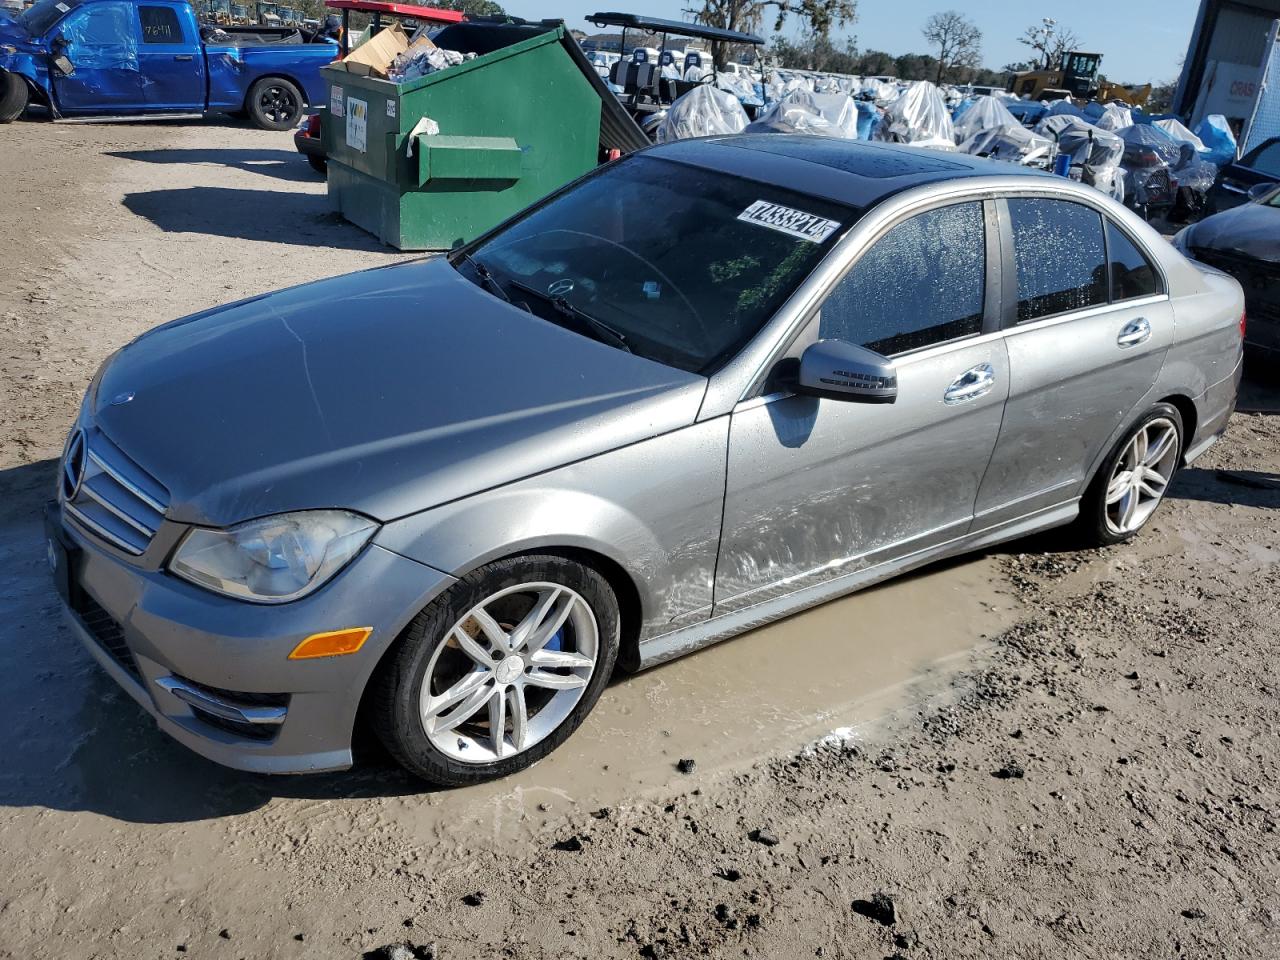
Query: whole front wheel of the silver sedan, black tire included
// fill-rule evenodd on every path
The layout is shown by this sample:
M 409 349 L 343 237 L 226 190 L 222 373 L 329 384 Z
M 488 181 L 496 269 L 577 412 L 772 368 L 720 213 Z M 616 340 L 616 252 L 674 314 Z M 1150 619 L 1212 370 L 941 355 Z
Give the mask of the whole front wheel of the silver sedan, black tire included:
M 620 635 L 617 598 L 595 570 L 553 554 L 486 564 L 397 640 L 370 691 L 375 730 L 434 783 L 506 777 L 577 730 Z

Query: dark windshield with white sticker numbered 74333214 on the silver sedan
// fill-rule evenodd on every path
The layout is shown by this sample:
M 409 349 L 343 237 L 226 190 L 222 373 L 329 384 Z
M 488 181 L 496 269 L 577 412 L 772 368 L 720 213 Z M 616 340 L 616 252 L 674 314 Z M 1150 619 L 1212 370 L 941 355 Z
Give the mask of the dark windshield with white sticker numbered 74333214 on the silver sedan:
M 759 332 L 858 215 L 636 156 L 538 207 L 456 266 L 481 285 L 488 274 L 513 303 L 553 323 L 707 374 Z

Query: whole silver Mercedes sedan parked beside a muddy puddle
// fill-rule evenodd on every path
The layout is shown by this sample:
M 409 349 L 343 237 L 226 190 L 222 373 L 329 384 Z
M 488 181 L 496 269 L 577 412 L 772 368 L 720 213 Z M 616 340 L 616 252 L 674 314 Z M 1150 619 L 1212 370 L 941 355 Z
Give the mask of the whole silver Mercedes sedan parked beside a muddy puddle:
M 648 667 L 1059 525 L 1226 428 L 1235 280 L 1098 192 L 815 137 L 608 164 L 448 257 L 161 326 L 47 512 L 76 630 L 233 767 L 517 771 Z

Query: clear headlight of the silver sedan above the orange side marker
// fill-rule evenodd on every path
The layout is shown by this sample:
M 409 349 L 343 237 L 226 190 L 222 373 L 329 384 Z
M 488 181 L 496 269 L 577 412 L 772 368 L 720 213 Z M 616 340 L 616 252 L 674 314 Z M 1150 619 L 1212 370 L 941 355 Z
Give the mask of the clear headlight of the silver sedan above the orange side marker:
M 317 590 L 378 524 L 346 511 L 302 511 L 225 530 L 195 527 L 169 562 L 184 580 L 242 600 L 284 603 Z

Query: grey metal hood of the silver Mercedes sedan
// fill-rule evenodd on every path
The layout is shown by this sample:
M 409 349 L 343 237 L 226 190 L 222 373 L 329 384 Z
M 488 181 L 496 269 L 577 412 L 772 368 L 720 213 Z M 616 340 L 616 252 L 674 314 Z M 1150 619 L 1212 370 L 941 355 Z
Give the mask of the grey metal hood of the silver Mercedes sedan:
M 172 520 L 388 521 L 686 426 L 705 388 L 439 257 L 160 326 L 108 361 L 91 411 L 169 490 Z

